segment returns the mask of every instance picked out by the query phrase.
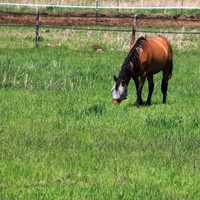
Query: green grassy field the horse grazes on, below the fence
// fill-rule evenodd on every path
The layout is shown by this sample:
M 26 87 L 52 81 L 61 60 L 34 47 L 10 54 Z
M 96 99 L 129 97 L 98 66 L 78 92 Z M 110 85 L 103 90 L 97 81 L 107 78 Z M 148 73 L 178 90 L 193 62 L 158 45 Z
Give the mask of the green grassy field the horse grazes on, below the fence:
M 151 107 L 133 83 L 112 106 L 129 37 L 47 29 L 35 49 L 32 29 L 0 29 L 0 199 L 199 200 L 200 38 L 168 35 L 166 105 L 157 75 Z

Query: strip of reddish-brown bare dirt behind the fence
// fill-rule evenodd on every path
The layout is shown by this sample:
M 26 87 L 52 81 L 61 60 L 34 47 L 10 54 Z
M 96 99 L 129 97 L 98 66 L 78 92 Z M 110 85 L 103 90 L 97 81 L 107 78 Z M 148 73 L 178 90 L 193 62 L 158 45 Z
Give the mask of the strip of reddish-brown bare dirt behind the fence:
M 1 24 L 35 24 L 34 14 L 0 13 Z M 41 14 L 42 25 L 107 25 L 132 26 L 133 14 L 68 13 L 63 15 Z M 200 28 L 200 15 L 138 15 L 139 27 Z

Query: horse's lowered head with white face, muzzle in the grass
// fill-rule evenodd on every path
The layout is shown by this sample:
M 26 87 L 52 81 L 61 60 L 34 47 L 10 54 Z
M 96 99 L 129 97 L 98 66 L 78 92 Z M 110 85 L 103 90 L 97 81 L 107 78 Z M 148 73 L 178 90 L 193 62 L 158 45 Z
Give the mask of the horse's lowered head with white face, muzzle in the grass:
M 114 76 L 115 84 L 112 88 L 112 103 L 120 104 L 128 96 L 128 83 L 126 80 Z

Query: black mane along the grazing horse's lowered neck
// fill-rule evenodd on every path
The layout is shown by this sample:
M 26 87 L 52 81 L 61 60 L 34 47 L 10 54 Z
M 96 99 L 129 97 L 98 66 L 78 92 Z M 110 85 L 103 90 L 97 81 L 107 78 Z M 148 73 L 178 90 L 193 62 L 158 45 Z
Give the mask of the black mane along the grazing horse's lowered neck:
M 146 38 L 143 36 L 137 39 L 134 46 L 131 48 L 131 50 L 129 51 L 129 54 L 127 55 L 127 57 L 124 60 L 121 71 L 119 73 L 119 77 L 118 77 L 119 79 L 126 80 L 129 78 L 129 77 L 127 77 L 127 74 L 131 73 L 130 72 L 130 62 L 133 63 L 133 66 L 140 65 L 138 48 L 143 48 L 145 41 L 146 41 Z

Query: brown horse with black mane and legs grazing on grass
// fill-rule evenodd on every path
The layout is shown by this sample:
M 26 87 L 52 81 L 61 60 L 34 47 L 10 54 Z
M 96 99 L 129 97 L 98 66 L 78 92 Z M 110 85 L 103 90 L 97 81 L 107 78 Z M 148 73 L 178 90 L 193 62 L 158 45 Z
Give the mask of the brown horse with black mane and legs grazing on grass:
M 154 90 L 153 75 L 160 71 L 163 72 L 161 84 L 163 103 L 166 103 L 168 80 L 172 76 L 172 70 L 173 52 L 168 40 L 162 36 L 140 37 L 124 60 L 119 76 L 114 76 L 113 104 L 119 104 L 127 98 L 128 84 L 132 78 L 137 90 L 136 105 L 143 104 L 142 88 L 145 79 L 148 80 L 149 89 L 146 105 L 151 105 L 151 96 Z

